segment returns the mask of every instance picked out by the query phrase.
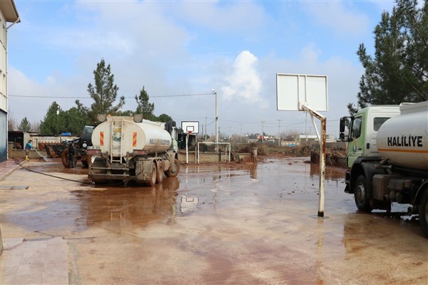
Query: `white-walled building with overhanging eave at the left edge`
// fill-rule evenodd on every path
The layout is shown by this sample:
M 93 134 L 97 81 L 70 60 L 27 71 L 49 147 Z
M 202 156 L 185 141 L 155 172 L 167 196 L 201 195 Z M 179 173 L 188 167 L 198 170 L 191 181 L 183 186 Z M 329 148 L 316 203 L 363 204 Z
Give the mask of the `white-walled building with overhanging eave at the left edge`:
M 19 21 L 14 0 L 0 0 L 0 162 L 7 159 L 7 33 Z

